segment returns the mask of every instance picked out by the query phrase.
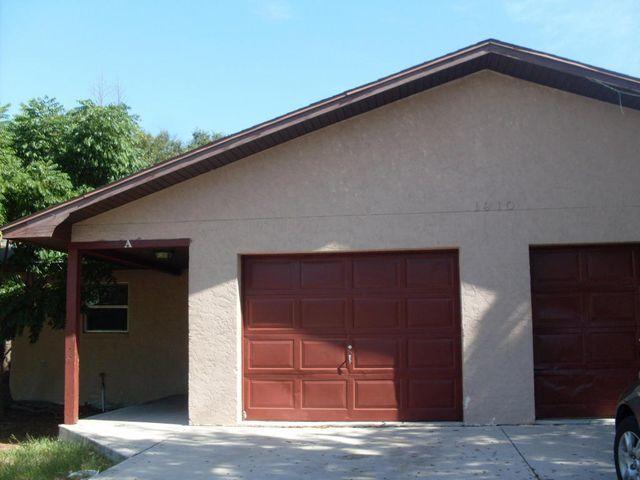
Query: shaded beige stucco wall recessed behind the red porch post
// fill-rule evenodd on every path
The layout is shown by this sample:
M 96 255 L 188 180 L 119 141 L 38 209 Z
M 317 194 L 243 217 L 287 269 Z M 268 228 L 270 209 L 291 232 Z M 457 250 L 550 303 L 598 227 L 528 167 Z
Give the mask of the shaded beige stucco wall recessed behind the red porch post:
M 100 404 L 101 372 L 112 406 L 187 393 L 187 274 L 115 276 L 129 284 L 129 332 L 80 334 L 80 402 Z M 47 328 L 33 344 L 16 339 L 11 392 L 17 400 L 63 402 L 64 332 Z

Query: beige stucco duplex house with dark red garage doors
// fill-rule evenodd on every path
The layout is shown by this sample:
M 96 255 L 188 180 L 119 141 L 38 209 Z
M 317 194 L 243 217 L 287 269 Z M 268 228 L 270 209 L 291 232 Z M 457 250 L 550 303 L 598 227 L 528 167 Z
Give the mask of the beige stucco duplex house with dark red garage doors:
M 192 424 L 610 416 L 640 366 L 638 110 L 640 79 L 487 40 L 6 225 L 69 252 L 14 395 L 66 423 L 100 373 Z M 126 267 L 117 312 L 81 318 L 83 256 Z

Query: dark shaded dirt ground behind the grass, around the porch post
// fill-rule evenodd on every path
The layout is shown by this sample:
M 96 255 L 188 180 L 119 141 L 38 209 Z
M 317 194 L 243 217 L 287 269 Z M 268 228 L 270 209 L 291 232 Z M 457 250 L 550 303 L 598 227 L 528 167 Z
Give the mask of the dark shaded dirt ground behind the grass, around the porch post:
M 99 413 L 91 407 L 80 409 L 80 417 Z M 58 436 L 58 425 L 62 423 L 62 405 L 49 403 L 16 402 L 7 408 L 0 418 L 0 451 L 24 441 L 28 437 Z

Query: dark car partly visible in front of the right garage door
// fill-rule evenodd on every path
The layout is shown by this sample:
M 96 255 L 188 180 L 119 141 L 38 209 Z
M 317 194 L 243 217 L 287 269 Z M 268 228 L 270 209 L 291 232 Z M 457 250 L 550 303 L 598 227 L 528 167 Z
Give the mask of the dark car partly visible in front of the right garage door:
M 640 480 L 640 381 L 622 395 L 616 410 L 613 457 L 619 480 Z

